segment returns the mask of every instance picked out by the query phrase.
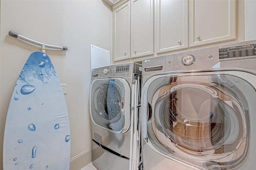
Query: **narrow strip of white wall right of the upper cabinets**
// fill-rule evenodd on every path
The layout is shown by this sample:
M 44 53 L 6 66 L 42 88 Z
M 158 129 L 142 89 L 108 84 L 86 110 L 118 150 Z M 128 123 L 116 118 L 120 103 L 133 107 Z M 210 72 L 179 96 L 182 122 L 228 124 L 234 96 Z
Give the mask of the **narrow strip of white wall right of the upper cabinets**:
M 244 0 L 245 40 L 256 39 L 256 0 Z

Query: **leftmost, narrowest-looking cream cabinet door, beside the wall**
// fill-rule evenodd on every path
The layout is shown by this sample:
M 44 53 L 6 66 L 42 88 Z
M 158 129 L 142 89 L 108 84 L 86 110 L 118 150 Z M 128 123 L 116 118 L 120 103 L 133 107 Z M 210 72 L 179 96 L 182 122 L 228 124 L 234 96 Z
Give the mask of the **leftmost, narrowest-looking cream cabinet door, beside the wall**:
M 113 11 L 114 61 L 130 58 L 130 1 Z

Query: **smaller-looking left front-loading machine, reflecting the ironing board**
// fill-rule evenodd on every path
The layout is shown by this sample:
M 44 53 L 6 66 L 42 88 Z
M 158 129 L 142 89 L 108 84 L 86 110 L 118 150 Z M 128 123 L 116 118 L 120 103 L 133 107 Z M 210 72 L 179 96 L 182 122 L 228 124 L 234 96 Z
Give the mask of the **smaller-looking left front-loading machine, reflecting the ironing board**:
M 99 170 L 129 170 L 135 166 L 141 72 L 142 65 L 137 63 L 92 70 L 92 163 Z

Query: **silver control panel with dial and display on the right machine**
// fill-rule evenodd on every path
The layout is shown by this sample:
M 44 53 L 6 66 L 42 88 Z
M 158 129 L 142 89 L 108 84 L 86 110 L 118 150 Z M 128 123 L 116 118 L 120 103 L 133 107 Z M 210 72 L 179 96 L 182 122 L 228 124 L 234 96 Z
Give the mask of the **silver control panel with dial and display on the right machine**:
M 254 69 L 256 40 L 182 51 L 144 59 L 143 81 L 164 72 L 194 72 L 219 68 Z

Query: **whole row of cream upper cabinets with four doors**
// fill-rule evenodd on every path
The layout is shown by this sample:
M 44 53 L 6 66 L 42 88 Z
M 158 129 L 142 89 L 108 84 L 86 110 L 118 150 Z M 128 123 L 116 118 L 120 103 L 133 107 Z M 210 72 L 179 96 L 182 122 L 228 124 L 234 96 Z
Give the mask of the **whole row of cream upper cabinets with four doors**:
M 236 39 L 236 0 L 119 0 L 111 8 L 114 61 Z

